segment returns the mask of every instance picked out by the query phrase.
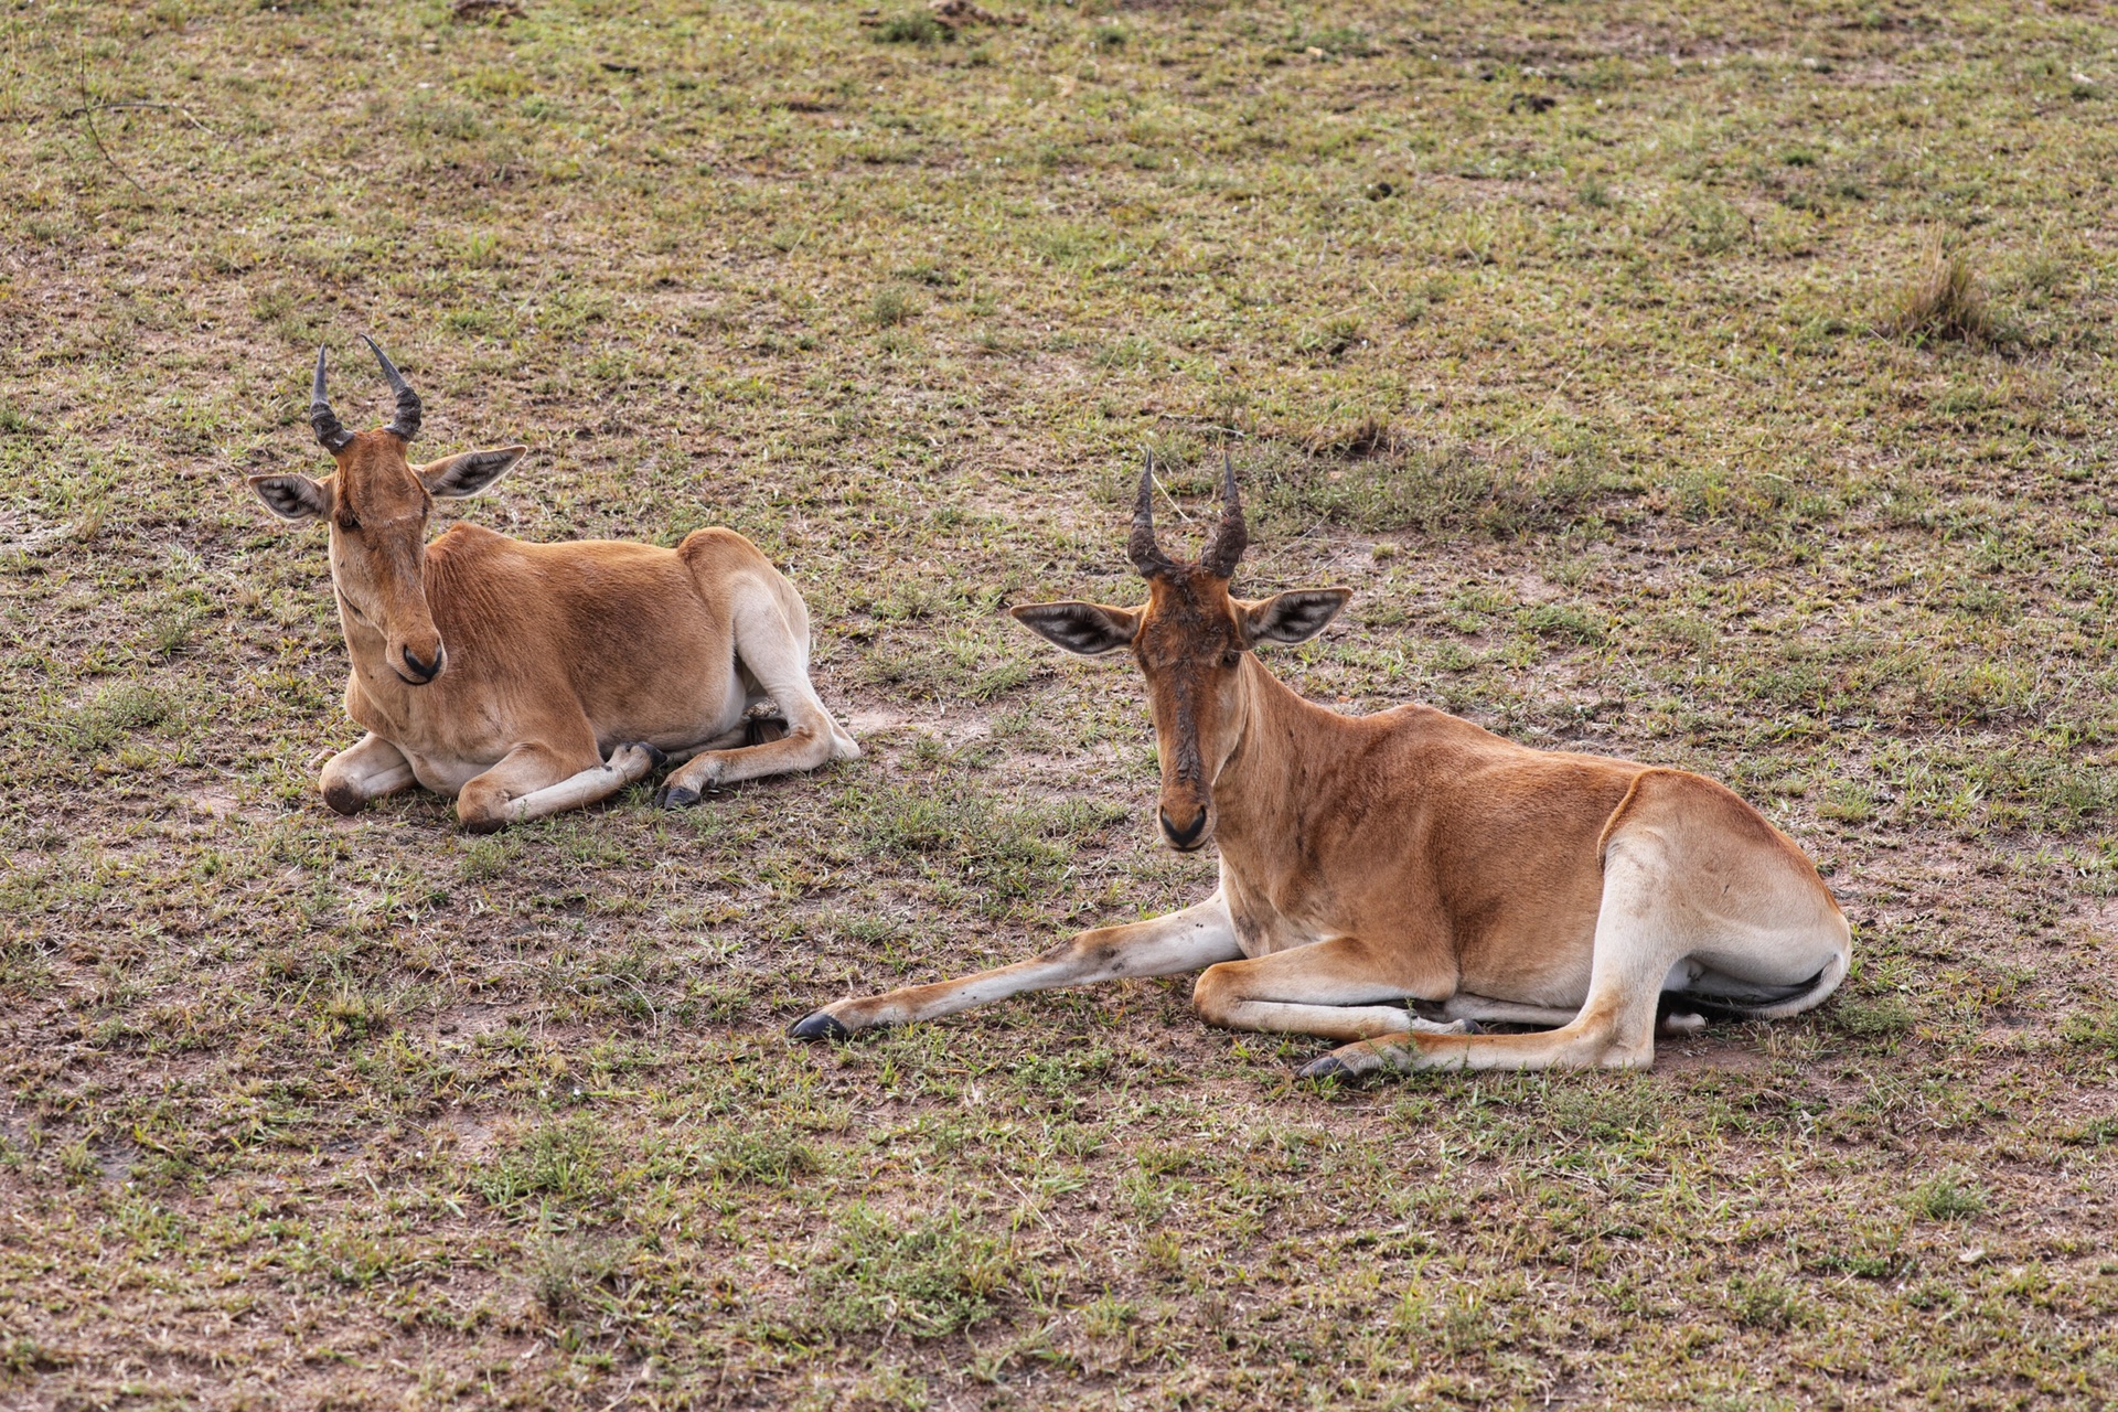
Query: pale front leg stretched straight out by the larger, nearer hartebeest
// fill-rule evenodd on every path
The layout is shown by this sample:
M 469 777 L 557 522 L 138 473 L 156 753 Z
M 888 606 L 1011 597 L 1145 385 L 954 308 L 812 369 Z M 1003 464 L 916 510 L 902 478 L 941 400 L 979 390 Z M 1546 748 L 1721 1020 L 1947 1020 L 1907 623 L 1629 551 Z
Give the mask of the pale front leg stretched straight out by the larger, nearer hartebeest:
M 796 1039 L 839 1039 L 858 1029 L 932 1020 L 1029 991 L 1129 976 L 1175 976 L 1239 955 L 1243 948 L 1235 942 L 1228 908 L 1220 893 L 1214 893 L 1182 912 L 1135 921 L 1127 927 L 1082 931 L 1034 961 L 1017 961 L 930 986 L 904 986 L 868 999 L 832 1001 L 796 1022 L 788 1033 Z

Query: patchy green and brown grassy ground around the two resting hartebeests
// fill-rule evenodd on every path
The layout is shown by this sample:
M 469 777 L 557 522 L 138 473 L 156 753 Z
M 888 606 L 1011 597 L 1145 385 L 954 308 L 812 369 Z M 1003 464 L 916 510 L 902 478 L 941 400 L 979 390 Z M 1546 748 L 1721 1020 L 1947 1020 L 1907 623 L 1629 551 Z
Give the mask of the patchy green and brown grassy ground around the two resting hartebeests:
M 2118 23 L 2093 6 L 0 11 L 0 1406 L 2118 1397 Z M 866 758 L 493 838 L 356 730 L 318 343 L 457 510 L 752 536 Z M 1824 1010 L 1313 1086 L 1182 980 L 803 1048 L 1205 893 L 1139 449 L 1347 711 L 1713 773 Z M 1184 533 L 1175 510 L 1165 523 Z

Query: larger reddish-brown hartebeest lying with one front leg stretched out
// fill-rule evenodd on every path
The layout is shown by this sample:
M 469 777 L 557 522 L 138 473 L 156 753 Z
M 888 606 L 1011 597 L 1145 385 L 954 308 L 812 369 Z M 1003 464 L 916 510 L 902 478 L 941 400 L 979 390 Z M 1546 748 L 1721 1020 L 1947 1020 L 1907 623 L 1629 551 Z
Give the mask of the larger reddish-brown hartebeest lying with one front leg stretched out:
M 1248 544 L 1235 472 L 1197 563 L 1156 544 L 1152 472 L 1129 542 L 1144 608 L 1010 612 L 1067 652 L 1133 650 L 1163 838 L 1218 843 L 1220 889 L 1034 961 L 837 1001 L 796 1037 L 1203 965 L 1192 1003 L 1214 1025 L 1358 1042 L 1307 1075 L 1646 1067 L 1665 995 L 1690 1029 L 1697 1010 L 1798 1014 L 1845 978 L 1847 921 L 1815 866 L 1711 779 L 1529 749 L 1423 705 L 1347 718 L 1296 696 L 1254 648 L 1315 637 L 1351 591 L 1231 597 Z

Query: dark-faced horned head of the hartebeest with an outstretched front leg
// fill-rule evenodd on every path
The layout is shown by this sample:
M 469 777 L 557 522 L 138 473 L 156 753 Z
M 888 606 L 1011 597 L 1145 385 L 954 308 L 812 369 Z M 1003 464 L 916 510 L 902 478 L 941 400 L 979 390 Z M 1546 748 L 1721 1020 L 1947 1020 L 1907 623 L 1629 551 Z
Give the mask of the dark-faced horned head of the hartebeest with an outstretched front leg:
M 1252 601 L 1228 595 L 1228 580 L 1250 544 L 1235 468 L 1222 455 L 1220 523 L 1197 561 L 1163 553 L 1154 538 L 1154 455 L 1139 472 L 1127 557 L 1148 580 L 1142 608 L 1103 603 L 1025 603 L 1008 612 L 1040 637 L 1097 656 L 1131 648 L 1148 680 L 1154 754 L 1163 768 L 1156 815 L 1178 851 L 1214 836 L 1214 783 L 1243 743 L 1243 692 L 1250 650 L 1260 641 L 1309 641 L 1324 631 L 1351 589 L 1292 589 Z

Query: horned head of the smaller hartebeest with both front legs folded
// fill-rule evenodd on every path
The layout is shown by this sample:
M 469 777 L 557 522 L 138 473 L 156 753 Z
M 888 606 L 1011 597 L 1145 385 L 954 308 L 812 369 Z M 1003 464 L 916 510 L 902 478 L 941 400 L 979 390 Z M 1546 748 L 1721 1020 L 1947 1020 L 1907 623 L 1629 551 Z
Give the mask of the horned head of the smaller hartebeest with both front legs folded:
M 447 644 L 426 603 L 426 521 L 434 497 L 457 500 L 489 489 L 527 447 L 464 451 L 413 466 L 405 449 L 419 434 L 419 394 L 375 347 L 396 415 L 375 432 L 347 432 L 324 398 L 324 349 L 316 349 L 309 426 L 337 466 L 322 481 L 303 474 L 250 476 L 273 514 L 330 525 L 330 582 L 339 622 L 356 654 L 379 652 L 407 686 L 426 686 L 449 665 Z M 371 658 L 373 660 L 373 658 Z

